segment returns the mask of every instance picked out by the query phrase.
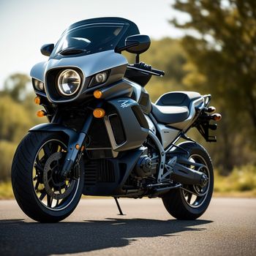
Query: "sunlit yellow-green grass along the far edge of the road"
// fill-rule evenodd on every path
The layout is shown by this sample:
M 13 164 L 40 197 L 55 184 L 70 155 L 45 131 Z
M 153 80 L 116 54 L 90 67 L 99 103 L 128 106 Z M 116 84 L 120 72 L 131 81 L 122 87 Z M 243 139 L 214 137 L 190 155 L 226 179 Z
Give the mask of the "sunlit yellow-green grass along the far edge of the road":
M 229 176 L 221 176 L 215 171 L 214 178 L 215 197 L 256 197 L 256 166 L 235 167 Z M 11 182 L 0 182 L 0 200 L 12 198 L 14 195 Z M 83 198 L 98 197 L 83 196 Z

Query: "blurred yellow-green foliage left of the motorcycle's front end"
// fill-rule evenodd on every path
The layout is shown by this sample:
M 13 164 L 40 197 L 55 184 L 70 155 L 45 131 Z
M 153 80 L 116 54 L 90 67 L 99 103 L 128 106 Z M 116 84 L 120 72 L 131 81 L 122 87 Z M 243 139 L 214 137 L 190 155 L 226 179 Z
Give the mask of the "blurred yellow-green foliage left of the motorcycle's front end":
M 5 84 L 12 86 L 0 91 L 0 181 L 10 180 L 12 157 L 20 140 L 30 127 L 45 121 L 36 118 L 38 107 L 34 105 L 34 95 L 26 89 L 27 81 L 27 75 L 11 75 Z

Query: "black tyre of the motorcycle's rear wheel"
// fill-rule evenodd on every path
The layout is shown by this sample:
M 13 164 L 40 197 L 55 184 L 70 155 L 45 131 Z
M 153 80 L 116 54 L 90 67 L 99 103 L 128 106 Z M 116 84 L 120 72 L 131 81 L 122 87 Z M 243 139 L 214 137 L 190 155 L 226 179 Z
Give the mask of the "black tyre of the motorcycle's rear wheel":
M 211 157 L 208 155 L 206 149 L 197 143 L 185 142 L 181 143 L 179 146 L 189 152 L 189 157 L 197 156 L 195 159 L 201 159 L 201 163 L 206 165 L 209 178 L 207 185 L 208 192 L 204 197 L 195 198 L 195 203 L 190 203 L 192 197 L 191 193 L 184 192 L 183 189 L 174 189 L 167 192 L 167 194 L 162 197 L 162 201 L 170 215 L 176 219 L 197 219 L 208 208 L 214 189 L 214 171 L 211 163 Z M 190 200 L 188 203 L 187 198 L 189 196 Z

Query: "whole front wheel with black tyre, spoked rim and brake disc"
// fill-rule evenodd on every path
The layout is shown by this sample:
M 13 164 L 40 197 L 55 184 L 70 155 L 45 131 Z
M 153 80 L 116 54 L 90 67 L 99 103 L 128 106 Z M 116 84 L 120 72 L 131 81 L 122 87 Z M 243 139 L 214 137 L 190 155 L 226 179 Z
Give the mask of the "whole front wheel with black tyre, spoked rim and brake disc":
M 83 160 L 59 178 L 67 140 L 56 132 L 29 132 L 12 162 L 12 189 L 18 205 L 38 222 L 59 222 L 75 210 L 83 190 Z

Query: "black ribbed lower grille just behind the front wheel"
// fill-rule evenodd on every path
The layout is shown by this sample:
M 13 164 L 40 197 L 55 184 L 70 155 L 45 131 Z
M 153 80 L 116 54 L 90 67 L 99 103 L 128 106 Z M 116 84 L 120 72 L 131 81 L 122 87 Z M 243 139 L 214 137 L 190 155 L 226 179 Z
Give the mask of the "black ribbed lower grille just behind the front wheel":
M 87 186 L 97 182 L 115 182 L 113 163 L 106 159 L 91 160 L 85 165 L 85 182 Z

